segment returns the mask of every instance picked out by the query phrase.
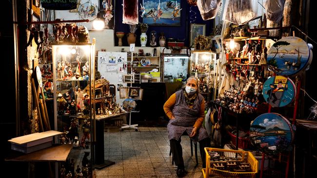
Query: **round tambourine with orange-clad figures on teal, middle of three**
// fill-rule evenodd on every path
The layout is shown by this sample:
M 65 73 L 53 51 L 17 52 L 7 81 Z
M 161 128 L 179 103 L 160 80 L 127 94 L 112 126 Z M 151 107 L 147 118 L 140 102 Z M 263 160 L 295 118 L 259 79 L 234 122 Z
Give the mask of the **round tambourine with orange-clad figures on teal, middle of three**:
M 290 78 L 277 75 L 264 82 L 262 94 L 272 107 L 284 107 L 295 98 L 296 87 Z

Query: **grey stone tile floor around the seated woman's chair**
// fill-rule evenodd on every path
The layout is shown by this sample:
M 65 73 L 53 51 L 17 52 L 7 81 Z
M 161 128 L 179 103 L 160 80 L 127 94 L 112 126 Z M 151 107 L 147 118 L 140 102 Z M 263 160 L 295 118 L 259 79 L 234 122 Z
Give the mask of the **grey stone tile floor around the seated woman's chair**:
M 110 127 L 105 130 L 104 138 L 105 159 L 116 163 L 101 170 L 95 169 L 96 178 L 177 178 L 177 166 L 172 165 L 172 156 L 169 156 L 166 127 L 139 127 L 138 132 Z M 203 178 L 199 145 L 198 167 L 195 167 L 195 153 L 191 156 L 189 137 L 182 136 L 181 140 L 188 171 L 185 178 Z

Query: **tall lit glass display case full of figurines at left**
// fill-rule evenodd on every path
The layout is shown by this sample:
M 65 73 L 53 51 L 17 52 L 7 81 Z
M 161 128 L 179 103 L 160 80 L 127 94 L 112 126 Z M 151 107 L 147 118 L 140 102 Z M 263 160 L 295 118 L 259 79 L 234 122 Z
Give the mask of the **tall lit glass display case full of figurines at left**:
M 82 174 L 91 174 L 96 116 L 95 91 L 91 87 L 95 83 L 94 44 L 52 45 L 54 127 L 63 132 L 59 143 L 73 144 L 69 162 L 59 165 L 59 174 L 67 166 L 79 166 Z

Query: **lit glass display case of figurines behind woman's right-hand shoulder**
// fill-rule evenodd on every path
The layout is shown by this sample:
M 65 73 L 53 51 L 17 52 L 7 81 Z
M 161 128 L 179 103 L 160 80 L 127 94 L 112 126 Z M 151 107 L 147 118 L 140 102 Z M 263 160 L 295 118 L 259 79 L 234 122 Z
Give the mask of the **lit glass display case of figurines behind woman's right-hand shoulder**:
M 206 104 L 214 92 L 216 53 L 212 51 L 191 51 L 188 73 L 199 79 L 199 92 L 205 97 Z M 207 107 L 206 107 L 207 108 Z

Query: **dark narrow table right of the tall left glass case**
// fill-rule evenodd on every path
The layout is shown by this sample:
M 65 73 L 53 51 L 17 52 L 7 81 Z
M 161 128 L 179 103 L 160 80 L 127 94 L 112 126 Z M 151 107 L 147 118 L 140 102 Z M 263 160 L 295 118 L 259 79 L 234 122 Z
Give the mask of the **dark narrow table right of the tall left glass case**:
M 114 161 L 104 160 L 104 121 L 111 118 L 116 118 L 128 112 L 122 112 L 112 115 L 96 115 L 96 147 L 95 147 L 95 162 L 94 168 L 103 169 L 114 164 Z

